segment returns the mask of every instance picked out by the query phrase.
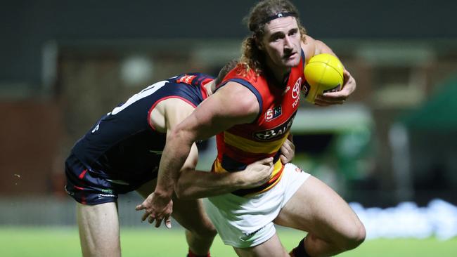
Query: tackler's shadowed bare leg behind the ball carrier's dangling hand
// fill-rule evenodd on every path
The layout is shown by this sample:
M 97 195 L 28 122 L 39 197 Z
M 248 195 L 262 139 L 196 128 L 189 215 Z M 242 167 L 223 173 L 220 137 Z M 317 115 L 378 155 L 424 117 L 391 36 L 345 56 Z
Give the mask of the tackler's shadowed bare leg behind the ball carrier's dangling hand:
M 139 187 L 137 192 L 144 198 L 154 191 L 157 180 L 151 180 Z M 181 200 L 173 198 L 172 217 L 186 228 L 186 240 L 189 250 L 198 256 L 207 256 L 216 229 L 203 209 L 200 200 Z

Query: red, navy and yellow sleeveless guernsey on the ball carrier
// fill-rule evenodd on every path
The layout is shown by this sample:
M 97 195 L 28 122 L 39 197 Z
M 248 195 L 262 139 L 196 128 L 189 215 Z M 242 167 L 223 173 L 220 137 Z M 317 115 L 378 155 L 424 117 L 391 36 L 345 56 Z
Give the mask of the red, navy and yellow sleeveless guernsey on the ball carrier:
M 247 87 L 259 101 L 260 111 L 251 124 L 239 124 L 217 135 L 217 159 L 213 171 L 234 172 L 245 169 L 266 157 L 273 157 L 274 170 L 270 180 L 259 187 L 237 190 L 236 195 L 252 195 L 265 192 L 281 180 L 284 165 L 281 163 L 280 149 L 288 137 L 290 126 L 300 102 L 300 91 L 304 84 L 304 53 L 300 64 L 292 67 L 283 85 L 273 84 L 264 75 L 254 71 L 246 72 L 245 66 L 238 64 L 229 72 L 218 88 L 228 81 Z M 236 104 L 236 103 L 235 103 Z

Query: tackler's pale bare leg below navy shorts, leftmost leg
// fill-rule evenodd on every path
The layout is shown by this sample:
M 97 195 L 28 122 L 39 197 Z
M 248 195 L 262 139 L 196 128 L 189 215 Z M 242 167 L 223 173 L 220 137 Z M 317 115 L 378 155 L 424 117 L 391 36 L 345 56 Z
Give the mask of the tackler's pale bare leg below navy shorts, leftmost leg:
M 114 202 L 77 203 L 77 223 L 83 256 L 121 256 L 119 219 Z

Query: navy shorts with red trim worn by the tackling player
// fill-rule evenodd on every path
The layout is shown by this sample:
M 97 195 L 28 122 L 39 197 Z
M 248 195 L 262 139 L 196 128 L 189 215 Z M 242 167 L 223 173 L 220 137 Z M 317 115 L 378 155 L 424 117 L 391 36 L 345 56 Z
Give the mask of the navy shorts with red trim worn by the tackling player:
M 157 178 L 157 172 L 153 173 L 153 176 L 151 173 L 142 178 L 137 176 L 135 180 L 110 179 L 109 174 L 101 176 L 91 172 L 74 154 L 70 154 L 65 161 L 65 176 L 67 195 L 80 204 L 96 205 L 117 202 L 117 195 L 138 189 L 143 183 Z

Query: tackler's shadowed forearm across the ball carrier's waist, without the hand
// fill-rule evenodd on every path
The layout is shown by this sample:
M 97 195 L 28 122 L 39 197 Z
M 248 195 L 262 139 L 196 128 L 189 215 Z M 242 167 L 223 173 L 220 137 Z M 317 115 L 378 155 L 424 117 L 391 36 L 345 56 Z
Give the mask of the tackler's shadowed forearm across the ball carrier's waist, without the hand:
M 240 173 L 182 171 L 175 192 L 180 199 L 197 199 L 223 195 L 246 187 Z

